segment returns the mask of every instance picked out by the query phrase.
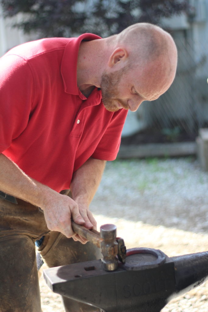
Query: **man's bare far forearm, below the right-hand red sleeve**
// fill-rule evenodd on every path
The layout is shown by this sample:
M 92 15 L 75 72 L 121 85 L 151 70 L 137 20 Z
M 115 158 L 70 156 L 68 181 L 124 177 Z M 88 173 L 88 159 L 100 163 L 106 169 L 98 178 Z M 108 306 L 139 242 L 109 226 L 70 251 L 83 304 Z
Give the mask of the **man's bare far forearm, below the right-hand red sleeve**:
M 106 161 L 89 158 L 73 174 L 70 190 L 75 202 L 89 206 L 101 181 Z

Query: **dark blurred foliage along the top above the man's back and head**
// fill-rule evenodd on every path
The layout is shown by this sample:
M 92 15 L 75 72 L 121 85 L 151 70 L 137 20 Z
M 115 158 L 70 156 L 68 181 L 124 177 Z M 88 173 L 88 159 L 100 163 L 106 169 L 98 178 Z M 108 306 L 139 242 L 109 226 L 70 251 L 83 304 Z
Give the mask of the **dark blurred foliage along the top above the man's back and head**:
M 188 8 L 188 0 L 0 0 L 5 17 L 23 14 L 15 24 L 43 37 L 68 37 L 92 32 L 102 37 L 136 22 L 158 24 Z

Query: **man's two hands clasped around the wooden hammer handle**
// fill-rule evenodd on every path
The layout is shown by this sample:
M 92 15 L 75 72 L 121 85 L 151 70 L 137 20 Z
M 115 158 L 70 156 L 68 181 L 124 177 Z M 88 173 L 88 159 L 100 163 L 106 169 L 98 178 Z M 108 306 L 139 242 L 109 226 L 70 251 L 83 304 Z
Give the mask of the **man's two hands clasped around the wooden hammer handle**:
M 44 207 L 46 224 L 49 230 L 63 233 L 75 241 L 85 244 L 87 240 L 76 234 L 71 227 L 71 220 L 87 229 L 96 229 L 96 221 L 84 201 L 78 204 L 67 195 L 53 194 Z

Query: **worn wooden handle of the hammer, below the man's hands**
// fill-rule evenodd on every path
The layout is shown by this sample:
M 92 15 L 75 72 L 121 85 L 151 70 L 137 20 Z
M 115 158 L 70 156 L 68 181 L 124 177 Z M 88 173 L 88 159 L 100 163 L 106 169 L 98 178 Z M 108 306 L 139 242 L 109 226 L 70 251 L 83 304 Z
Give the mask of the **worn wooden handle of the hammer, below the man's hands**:
M 75 233 L 86 238 L 88 241 L 93 243 L 93 245 L 100 248 L 100 243 L 101 241 L 103 241 L 103 239 L 100 237 L 100 232 L 96 230 L 88 230 L 86 227 L 83 227 L 82 225 L 79 225 L 74 221 L 71 221 L 71 225 Z

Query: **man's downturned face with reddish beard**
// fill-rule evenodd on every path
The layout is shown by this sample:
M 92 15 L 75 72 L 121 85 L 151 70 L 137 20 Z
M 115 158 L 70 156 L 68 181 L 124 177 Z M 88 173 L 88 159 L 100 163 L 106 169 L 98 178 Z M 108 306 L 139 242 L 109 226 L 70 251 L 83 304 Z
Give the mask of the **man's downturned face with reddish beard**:
M 145 101 L 156 100 L 170 86 L 171 77 L 164 75 L 162 67 L 144 68 L 126 66 L 119 71 L 103 72 L 100 82 L 103 104 L 109 111 L 121 108 L 136 111 Z

